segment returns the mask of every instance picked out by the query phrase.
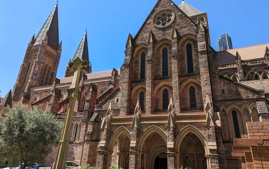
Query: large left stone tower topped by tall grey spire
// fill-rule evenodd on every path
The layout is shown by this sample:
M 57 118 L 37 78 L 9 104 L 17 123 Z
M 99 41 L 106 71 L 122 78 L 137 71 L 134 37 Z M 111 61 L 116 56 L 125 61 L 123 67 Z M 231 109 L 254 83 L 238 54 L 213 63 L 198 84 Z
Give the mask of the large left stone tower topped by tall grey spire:
M 31 38 L 12 92 L 12 100 L 30 103 L 30 88 L 51 85 L 61 57 L 58 4 L 55 5 L 39 33 Z

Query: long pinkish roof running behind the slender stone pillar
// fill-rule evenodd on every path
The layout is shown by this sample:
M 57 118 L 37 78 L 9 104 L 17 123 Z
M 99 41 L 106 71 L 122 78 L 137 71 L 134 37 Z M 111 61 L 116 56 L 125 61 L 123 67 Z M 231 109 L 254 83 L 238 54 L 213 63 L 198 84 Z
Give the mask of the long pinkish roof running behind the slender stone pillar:
M 96 72 L 96 73 L 88 73 L 86 74 L 87 80 L 111 77 L 112 71 L 113 70 L 106 70 L 106 71 L 101 71 L 101 72 Z M 117 71 L 118 71 L 118 74 L 120 75 L 120 69 L 117 69 Z M 59 78 L 60 83 L 69 83 L 69 82 L 72 82 L 72 79 L 73 79 L 73 76 Z

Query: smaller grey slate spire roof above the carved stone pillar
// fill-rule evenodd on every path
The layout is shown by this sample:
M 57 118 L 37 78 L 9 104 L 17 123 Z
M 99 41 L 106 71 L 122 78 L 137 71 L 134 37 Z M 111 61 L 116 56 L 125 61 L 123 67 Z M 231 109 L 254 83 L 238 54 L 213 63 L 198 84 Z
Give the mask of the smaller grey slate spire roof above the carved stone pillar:
M 81 58 L 82 60 L 89 60 L 87 31 L 85 31 L 72 61 L 75 60 L 77 57 Z M 88 71 L 89 66 L 85 68 L 85 70 Z

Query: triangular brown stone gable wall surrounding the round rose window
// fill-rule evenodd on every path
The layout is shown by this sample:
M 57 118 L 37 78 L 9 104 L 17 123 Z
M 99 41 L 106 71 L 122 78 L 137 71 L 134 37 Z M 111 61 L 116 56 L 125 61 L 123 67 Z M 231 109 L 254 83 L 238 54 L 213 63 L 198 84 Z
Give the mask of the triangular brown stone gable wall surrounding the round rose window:
M 157 28 L 153 24 L 153 18 L 163 10 L 171 10 L 174 13 L 174 21 L 167 27 Z M 175 3 L 171 0 L 159 0 L 134 37 L 135 44 L 147 43 L 150 30 L 152 30 L 158 41 L 171 39 L 173 25 L 175 25 L 181 36 L 185 34 L 196 35 L 196 24 Z

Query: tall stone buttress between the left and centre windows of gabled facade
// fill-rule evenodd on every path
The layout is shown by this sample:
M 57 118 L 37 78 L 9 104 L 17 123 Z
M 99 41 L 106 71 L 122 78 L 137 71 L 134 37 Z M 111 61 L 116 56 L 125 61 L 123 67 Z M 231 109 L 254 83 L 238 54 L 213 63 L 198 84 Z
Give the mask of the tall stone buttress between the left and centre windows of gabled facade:
M 148 55 L 146 58 L 146 114 L 153 114 L 153 80 L 154 80 L 154 35 L 149 31 Z

